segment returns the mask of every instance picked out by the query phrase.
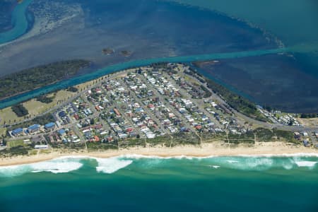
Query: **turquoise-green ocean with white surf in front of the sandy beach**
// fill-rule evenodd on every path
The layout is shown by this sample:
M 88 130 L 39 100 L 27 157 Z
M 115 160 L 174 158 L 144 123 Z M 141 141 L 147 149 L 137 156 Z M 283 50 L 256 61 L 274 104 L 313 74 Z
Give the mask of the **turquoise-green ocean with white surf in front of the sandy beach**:
M 57 158 L 0 167 L 0 211 L 317 211 L 317 155 Z

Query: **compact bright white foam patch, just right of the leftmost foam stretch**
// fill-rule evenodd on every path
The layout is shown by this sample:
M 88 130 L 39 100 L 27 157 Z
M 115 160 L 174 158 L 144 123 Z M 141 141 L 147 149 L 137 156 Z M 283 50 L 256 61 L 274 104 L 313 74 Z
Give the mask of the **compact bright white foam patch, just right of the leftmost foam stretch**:
M 98 162 L 96 170 L 106 174 L 112 174 L 118 170 L 130 165 L 132 160 L 120 160 L 118 158 L 95 158 Z

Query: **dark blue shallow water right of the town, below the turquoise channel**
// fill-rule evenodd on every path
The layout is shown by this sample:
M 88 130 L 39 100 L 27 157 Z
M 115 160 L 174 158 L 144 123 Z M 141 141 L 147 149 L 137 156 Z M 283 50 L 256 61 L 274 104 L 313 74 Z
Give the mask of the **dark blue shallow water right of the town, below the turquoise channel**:
M 201 69 L 261 105 L 286 112 L 318 112 L 318 78 L 294 57 L 271 54 L 226 59 L 218 64 L 203 64 Z

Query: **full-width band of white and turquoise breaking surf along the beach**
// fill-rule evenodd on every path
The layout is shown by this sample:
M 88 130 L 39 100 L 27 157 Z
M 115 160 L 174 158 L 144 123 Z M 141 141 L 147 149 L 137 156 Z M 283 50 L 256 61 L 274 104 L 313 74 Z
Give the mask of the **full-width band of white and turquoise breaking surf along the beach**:
M 241 156 L 210 156 L 210 157 L 188 157 L 185 155 L 177 157 L 159 157 L 146 155 L 121 155 L 114 158 L 93 158 L 88 156 L 66 156 L 48 160 L 40 163 L 26 165 L 11 165 L 0 167 L 0 177 L 14 177 L 25 173 L 52 172 L 54 174 L 72 172 L 83 167 L 83 160 L 95 160 L 98 165 L 96 172 L 112 174 L 124 167 L 131 165 L 134 161 L 141 168 L 153 166 L 166 166 L 169 160 L 184 160 L 189 165 L 204 166 L 216 170 L 229 168 L 236 170 L 269 170 L 271 168 L 293 168 L 314 169 L 318 164 L 317 154 L 294 154 L 294 155 L 241 155 Z M 163 163 L 165 162 L 165 163 Z

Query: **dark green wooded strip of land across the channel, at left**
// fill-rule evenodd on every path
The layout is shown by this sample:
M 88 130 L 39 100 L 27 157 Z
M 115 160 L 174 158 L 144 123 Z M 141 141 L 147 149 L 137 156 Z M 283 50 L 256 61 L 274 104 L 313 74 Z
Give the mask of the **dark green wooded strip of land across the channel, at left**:
M 64 78 L 70 78 L 89 64 L 90 61 L 75 59 L 11 73 L 0 78 L 0 99 L 47 86 Z

